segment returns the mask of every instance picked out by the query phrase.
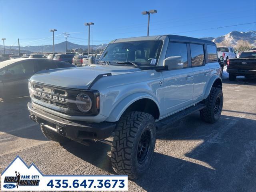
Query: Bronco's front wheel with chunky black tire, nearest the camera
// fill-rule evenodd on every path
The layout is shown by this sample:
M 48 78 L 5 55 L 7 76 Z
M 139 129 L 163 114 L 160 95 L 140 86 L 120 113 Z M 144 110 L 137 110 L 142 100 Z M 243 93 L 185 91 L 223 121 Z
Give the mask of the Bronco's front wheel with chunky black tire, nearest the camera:
M 118 174 L 136 179 L 150 165 L 156 143 L 154 117 L 133 111 L 124 114 L 115 130 L 111 147 L 111 164 Z

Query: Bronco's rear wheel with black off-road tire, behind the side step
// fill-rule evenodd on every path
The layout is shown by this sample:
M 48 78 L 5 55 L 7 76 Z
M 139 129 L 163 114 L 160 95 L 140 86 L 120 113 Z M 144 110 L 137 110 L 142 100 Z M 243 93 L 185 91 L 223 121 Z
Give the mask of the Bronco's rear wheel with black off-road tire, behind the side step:
M 208 97 L 202 101 L 205 108 L 200 110 L 200 117 L 207 123 L 215 123 L 220 118 L 223 107 L 223 93 L 220 88 L 212 87 Z

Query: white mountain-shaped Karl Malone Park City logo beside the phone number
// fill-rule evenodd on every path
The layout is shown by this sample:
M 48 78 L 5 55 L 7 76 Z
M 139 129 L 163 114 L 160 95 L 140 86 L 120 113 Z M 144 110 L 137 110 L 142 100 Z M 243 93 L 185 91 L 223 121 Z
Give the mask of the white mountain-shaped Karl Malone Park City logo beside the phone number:
M 42 174 L 34 164 L 27 166 L 17 156 L 2 172 L 2 187 L 6 189 L 22 189 L 26 186 L 39 186 L 40 177 L 42 177 Z

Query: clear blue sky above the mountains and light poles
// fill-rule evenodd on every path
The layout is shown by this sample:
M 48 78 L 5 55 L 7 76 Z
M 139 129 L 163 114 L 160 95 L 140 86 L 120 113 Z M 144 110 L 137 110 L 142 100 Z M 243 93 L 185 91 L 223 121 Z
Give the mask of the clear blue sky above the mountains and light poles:
M 88 26 L 94 22 L 93 44 L 108 43 L 115 38 L 146 36 L 147 16 L 144 10 L 158 12 L 150 16 L 150 35 L 179 34 L 191 37 L 217 37 L 230 31 L 256 30 L 256 24 L 232 26 L 256 22 L 255 0 L 220 1 L 28 1 L 0 0 L 0 38 L 5 45 L 52 44 L 65 40 L 61 33 L 69 32 L 68 41 L 88 43 Z M 196 32 L 188 32 L 201 30 Z M 181 33 L 184 32 L 184 33 Z M 2 44 L 2 40 L 1 40 Z

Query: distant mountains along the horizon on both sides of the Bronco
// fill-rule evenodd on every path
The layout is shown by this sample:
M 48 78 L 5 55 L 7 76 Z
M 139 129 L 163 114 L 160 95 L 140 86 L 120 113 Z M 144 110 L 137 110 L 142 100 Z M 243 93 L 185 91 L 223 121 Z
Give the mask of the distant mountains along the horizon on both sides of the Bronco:
M 238 31 L 232 31 L 226 35 L 219 36 L 219 37 L 204 37 L 201 38 L 204 40 L 210 40 L 215 43 L 220 43 L 223 41 L 228 42 L 231 46 L 236 46 L 236 43 L 238 40 L 246 40 L 252 44 L 252 46 L 256 46 L 256 31 L 248 31 L 248 32 L 238 32 Z M 65 47 L 66 43 L 61 42 L 58 44 L 54 45 L 55 52 L 65 52 Z M 104 49 L 107 46 L 107 44 L 100 44 L 100 45 L 93 45 L 92 48 L 95 49 Z M 72 42 L 67 42 L 67 49 L 87 49 L 87 45 L 78 45 L 74 44 Z M 5 48 L 6 53 L 10 53 L 10 48 L 9 46 L 6 46 Z M 52 45 L 44 45 L 44 46 L 25 46 L 25 47 L 20 47 L 21 52 L 52 52 Z M 0 45 L 0 52 L 4 53 L 4 46 Z M 12 46 L 11 47 L 11 52 L 12 53 L 17 53 L 18 52 L 18 46 Z

